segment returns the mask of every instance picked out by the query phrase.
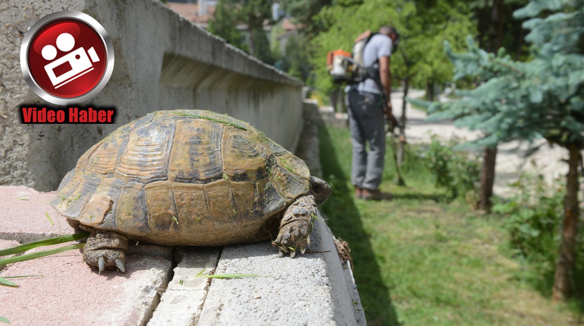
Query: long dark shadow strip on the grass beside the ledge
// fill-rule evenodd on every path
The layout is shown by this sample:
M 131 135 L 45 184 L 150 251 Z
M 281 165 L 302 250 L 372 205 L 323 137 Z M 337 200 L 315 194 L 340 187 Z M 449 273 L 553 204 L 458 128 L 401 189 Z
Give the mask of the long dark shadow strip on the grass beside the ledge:
M 319 128 L 319 138 L 322 176 L 333 190 L 321 209 L 329 218 L 326 222 L 333 234 L 349 243 L 354 262 L 353 274 L 367 324 L 398 326 L 400 324 L 389 289 L 383 282 L 376 255 L 353 201 L 353 190 L 347 187 L 347 177 L 324 126 Z

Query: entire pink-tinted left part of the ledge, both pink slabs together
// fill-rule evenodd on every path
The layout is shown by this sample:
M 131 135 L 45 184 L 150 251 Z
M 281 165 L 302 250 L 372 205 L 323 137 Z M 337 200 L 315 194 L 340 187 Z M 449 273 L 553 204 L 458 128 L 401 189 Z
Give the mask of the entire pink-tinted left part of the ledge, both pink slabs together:
M 48 205 L 54 195 L 26 187 L 0 187 L 0 209 L 6 212 L 0 215 L 0 248 L 74 233 Z M 85 264 L 80 250 L 10 264 L 0 276 L 43 276 L 15 279 L 18 288 L 0 286 L 0 316 L 12 325 L 143 325 L 158 304 L 158 291 L 168 284 L 172 259 L 172 247 L 142 243 L 128 248 L 125 275 L 114 271 L 99 275 Z

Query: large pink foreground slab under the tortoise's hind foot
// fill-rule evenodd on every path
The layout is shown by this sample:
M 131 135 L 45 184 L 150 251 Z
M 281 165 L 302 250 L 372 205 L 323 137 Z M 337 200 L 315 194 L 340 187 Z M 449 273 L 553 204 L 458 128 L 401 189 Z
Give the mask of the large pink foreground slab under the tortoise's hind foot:
M 11 325 L 144 325 L 168 282 L 171 262 L 130 255 L 126 264 L 126 274 L 99 275 L 82 260 L 81 250 L 11 264 L 0 276 L 42 276 L 18 279 L 18 288 L 0 286 L 0 316 Z

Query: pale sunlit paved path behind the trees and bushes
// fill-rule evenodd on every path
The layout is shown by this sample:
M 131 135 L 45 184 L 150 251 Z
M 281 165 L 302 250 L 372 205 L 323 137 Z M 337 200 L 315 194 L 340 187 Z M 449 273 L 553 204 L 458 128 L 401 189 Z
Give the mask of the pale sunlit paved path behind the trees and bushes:
M 420 97 L 423 91 L 410 91 L 408 96 Z M 391 94 L 392 106 L 397 116 L 402 111 L 402 92 Z M 431 134 L 439 135 L 443 139 L 450 139 L 453 136 L 465 139 L 477 139 L 480 132 L 470 131 L 466 128 L 454 127 L 452 121 L 428 122 L 425 111 L 412 108 L 408 103 L 406 108 L 406 139 L 409 143 L 428 142 Z M 568 158 L 568 151 L 560 146 L 550 147 L 544 139 L 536 145 L 542 145 L 534 155 L 524 158 L 527 143 L 510 142 L 499 146 L 497 162 L 495 168 L 494 191 L 498 194 L 507 194 L 510 188 L 507 184 L 517 180 L 522 171 L 527 173 L 541 173 L 548 183 L 555 178 L 564 178 L 568 171 L 568 166 L 562 160 Z

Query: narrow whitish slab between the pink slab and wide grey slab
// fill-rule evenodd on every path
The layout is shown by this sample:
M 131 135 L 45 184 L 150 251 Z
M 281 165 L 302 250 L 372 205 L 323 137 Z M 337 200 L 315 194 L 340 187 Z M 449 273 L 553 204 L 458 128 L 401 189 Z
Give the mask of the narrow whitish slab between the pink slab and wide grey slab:
M 209 283 L 208 278 L 193 276 L 200 271 L 204 271 L 201 275 L 208 275 L 217 267 L 220 253 L 221 247 L 177 248 L 175 257 L 179 264 L 148 326 L 197 324 Z

